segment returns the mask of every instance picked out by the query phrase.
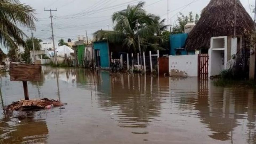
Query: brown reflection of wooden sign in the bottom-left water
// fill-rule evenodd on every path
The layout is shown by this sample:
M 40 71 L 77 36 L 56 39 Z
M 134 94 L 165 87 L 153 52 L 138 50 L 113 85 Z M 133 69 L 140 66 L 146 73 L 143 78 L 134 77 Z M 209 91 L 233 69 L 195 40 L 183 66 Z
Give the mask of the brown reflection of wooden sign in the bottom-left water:
M 45 143 L 48 128 L 42 113 L 22 112 L 0 119 L 0 143 Z M 21 121 L 19 123 L 19 121 Z

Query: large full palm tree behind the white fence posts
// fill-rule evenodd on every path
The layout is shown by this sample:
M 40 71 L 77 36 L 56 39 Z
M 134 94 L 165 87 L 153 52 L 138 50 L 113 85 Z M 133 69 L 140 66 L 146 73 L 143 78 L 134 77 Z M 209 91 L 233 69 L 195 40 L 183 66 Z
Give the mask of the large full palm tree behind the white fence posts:
M 127 9 L 117 11 L 112 15 L 112 21 L 115 23 L 113 31 L 99 30 L 94 33 L 97 41 L 107 40 L 112 43 L 123 43 L 128 49 L 133 48 L 137 51 L 138 34 L 140 35 L 141 46 L 145 51 L 147 47 L 159 49 L 158 41 L 162 37 L 159 33 L 160 17 L 147 14 L 143 9 L 145 2 L 139 2 L 137 5 L 129 5 Z M 140 26 L 136 27 L 136 21 Z

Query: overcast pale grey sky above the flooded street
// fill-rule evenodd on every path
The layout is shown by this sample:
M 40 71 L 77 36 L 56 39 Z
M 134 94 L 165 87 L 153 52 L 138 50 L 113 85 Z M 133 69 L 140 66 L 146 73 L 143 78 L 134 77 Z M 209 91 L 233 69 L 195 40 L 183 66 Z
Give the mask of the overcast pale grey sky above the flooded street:
M 50 12 L 45 9 L 57 9 L 53 12 L 55 41 L 64 38 L 77 40 L 78 35 L 87 34 L 89 39 L 92 33 L 103 29 L 112 29 L 111 15 L 115 11 L 123 10 L 129 4 L 137 4 L 141 0 L 20 0 L 21 3 L 31 5 L 35 10 L 36 23 L 35 37 L 45 41 L 51 41 Z M 144 0 L 147 12 L 167 18 L 167 0 Z M 169 18 L 171 24 L 177 19 L 177 14 L 201 13 L 201 10 L 210 0 L 169 0 Z M 250 15 L 255 0 L 240 0 Z M 250 5 L 249 5 L 250 3 Z M 27 28 L 22 28 L 27 31 Z M 42 31 L 44 30 L 44 31 Z M 30 33 L 26 32 L 28 35 Z

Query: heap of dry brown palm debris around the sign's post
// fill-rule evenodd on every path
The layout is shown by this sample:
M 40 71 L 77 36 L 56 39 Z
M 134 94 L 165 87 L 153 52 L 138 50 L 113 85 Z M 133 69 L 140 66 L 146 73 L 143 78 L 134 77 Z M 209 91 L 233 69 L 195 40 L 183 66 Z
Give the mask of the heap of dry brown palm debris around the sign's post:
M 51 109 L 51 107 L 63 106 L 67 103 L 61 103 L 54 99 L 49 100 L 48 98 L 35 99 L 35 100 L 24 100 L 21 99 L 17 102 L 13 102 L 4 108 L 6 111 L 26 111 L 26 110 L 36 110 L 36 109 Z

